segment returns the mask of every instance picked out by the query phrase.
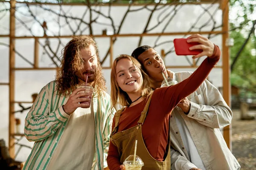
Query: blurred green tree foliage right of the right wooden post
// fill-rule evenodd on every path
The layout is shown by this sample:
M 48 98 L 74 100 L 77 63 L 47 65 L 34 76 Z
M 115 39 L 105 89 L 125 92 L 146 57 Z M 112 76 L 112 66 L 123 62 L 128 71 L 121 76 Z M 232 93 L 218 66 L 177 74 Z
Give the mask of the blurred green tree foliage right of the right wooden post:
M 256 1 L 230 0 L 231 84 L 256 91 Z

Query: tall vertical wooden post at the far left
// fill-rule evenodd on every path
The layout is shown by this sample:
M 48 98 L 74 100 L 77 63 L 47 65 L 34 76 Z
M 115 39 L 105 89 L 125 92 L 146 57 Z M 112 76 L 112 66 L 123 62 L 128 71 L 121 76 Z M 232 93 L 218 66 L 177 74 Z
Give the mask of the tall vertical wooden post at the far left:
M 10 36 L 9 36 L 9 153 L 12 158 L 15 157 L 15 139 L 12 134 L 15 133 L 15 114 L 14 100 L 15 100 L 15 7 L 16 0 L 10 0 Z M 13 147 L 11 147 L 13 146 Z

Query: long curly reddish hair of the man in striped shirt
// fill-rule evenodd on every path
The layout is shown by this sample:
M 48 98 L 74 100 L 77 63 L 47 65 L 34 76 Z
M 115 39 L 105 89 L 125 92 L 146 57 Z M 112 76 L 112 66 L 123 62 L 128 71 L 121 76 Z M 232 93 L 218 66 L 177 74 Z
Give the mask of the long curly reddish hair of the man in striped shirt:
M 98 97 L 102 95 L 102 91 L 106 91 L 106 82 L 103 77 L 99 50 L 95 40 L 90 36 L 77 36 L 73 37 L 61 51 L 61 66 L 56 77 L 57 90 L 60 94 L 70 94 L 71 91 L 78 87 L 79 78 L 76 76 L 76 72 L 84 66 L 81 49 L 88 48 L 90 45 L 95 48 L 98 60 L 95 80 L 92 82 L 92 86 Z

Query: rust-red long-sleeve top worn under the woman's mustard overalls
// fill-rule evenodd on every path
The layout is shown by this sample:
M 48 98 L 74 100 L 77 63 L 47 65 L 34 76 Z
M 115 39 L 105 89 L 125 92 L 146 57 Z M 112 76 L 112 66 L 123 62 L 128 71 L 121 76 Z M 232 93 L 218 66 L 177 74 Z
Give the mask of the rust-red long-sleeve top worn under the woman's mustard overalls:
M 215 45 L 212 57 L 207 57 L 189 78 L 177 85 L 157 88 L 154 91 L 147 117 L 142 125 L 144 143 L 148 152 L 154 159 L 163 161 L 166 156 L 166 147 L 169 137 L 169 118 L 172 110 L 180 100 L 196 91 L 202 82 L 204 82 L 209 72 L 218 62 L 220 55 L 221 51 L 218 46 Z M 121 113 L 117 132 L 136 126 L 145 104 L 146 99 L 137 105 L 125 108 Z M 115 120 L 113 119 L 112 129 L 114 125 Z M 118 148 L 110 141 L 107 157 L 108 168 L 110 170 L 120 170 L 120 157 Z

